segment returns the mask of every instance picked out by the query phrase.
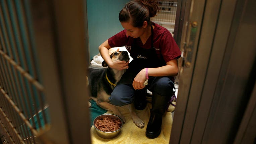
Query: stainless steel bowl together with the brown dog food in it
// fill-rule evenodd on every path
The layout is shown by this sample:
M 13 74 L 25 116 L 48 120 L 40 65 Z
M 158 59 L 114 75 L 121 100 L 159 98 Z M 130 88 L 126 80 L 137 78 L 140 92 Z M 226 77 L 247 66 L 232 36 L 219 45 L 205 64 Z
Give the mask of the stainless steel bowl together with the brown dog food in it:
M 117 115 L 103 114 L 94 119 L 93 126 L 100 137 L 111 139 L 120 133 L 123 121 Z

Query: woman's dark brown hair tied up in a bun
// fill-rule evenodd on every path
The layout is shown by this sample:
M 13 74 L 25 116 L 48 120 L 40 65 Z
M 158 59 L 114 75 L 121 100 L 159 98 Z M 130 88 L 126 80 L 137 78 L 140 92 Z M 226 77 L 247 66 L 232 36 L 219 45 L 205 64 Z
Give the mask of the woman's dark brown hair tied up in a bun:
M 157 0 L 133 0 L 120 11 L 119 21 L 131 21 L 134 27 L 142 27 L 143 22 L 150 23 L 150 18 L 154 17 L 158 11 Z

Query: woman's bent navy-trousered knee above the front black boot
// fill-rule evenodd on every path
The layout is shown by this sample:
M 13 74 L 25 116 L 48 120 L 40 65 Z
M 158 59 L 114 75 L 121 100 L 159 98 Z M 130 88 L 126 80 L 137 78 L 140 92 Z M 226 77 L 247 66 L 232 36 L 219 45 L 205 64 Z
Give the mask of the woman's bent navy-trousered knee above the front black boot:
M 156 77 L 150 88 L 159 95 L 169 95 L 173 94 L 174 83 L 168 77 Z

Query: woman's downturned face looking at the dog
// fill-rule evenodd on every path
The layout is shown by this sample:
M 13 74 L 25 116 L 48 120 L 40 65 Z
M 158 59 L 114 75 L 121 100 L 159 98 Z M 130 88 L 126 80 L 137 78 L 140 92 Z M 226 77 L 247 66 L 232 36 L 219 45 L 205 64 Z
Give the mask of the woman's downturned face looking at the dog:
M 138 38 L 145 32 L 145 29 L 143 28 L 143 26 L 140 28 L 133 27 L 131 22 L 121 22 L 121 25 L 123 26 L 124 29 L 126 29 L 126 36 Z

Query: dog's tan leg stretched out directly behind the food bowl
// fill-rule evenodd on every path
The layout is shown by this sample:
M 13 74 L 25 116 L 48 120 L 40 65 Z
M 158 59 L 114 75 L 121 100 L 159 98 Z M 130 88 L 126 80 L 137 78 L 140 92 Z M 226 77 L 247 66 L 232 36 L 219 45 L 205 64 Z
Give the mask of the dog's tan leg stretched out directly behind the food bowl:
M 118 110 L 118 108 L 115 105 L 112 105 L 106 101 L 97 101 L 97 105 L 99 105 L 101 108 L 112 111 L 115 115 L 118 115 L 123 122 L 125 123 L 125 118 L 124 116 L 120 113 L 120 111 Z

